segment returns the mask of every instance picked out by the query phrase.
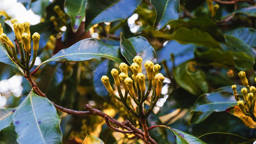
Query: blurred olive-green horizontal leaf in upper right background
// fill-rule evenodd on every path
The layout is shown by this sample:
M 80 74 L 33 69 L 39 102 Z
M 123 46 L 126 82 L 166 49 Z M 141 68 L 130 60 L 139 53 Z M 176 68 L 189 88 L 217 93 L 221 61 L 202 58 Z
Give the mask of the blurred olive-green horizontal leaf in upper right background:
M 196 45 L 203 45 L 208 47 L 220 48 L 219 42 L 217 42 L 211 35 L 200 29 L 193 28 L 180 28 L 173 34 L 166 34 L 163 32 L 152 33 L 154 37 L 160 37 L 165 39 L 174 39 L 182 44 L 194 43 Z

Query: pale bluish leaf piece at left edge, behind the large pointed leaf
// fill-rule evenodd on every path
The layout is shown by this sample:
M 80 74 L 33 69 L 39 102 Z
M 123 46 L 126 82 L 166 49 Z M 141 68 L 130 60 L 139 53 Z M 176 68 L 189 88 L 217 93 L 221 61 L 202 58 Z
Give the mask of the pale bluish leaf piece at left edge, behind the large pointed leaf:
M 12 123 L 12 115 L 16 108 L 0 109 L 0 130 Z

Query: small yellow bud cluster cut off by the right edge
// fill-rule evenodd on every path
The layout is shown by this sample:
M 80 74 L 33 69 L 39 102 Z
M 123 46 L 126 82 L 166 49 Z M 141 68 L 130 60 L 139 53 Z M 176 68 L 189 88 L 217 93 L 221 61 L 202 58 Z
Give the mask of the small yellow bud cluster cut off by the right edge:
M 233 93 L 235 95 L 235 98 L 237 100 L 238 106 L 240 107 L 241 111 L 245 115 L 251 116 L 253 119 L 255 119 L 254 106 L 256 101 L 256 88 L 254 86 L 249 86 L 248 80 L 245 75 L 245 71 L 240 71 L 238 76 L 240 77 L 243 85 L 246 86 L 241 89 L 244 100 L 239 99 L 239 94 L 237 93 L 237 86 L 236 85 L 231 86 Z M 256 78 L 255 78 L 255 82 L 256 82 Z

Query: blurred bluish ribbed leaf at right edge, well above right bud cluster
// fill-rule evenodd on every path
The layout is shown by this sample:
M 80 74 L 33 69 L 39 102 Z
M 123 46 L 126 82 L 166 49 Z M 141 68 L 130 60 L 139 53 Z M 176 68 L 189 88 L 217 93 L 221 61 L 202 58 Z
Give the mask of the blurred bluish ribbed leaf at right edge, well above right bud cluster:
M 240 39 L 249 46 L 256 46 L 255 33 L 256 33 L 256 30 L 253 28 L 238 28 L 238 29 L 227 32 L 226 35 Z

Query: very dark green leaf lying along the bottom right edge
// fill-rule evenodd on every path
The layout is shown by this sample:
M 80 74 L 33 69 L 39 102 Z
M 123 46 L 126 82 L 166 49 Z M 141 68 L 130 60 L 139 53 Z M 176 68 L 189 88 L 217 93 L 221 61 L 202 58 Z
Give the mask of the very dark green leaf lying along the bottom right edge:
M 247 139 L 242 136 L 231 134 L 231 133 L 222 133 L 222 132 L 212 132 L 207 133 L 199 137 L 208 144 L 214 143 L 253 143 L 256 139 Z

